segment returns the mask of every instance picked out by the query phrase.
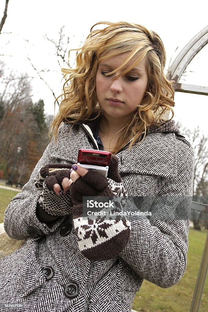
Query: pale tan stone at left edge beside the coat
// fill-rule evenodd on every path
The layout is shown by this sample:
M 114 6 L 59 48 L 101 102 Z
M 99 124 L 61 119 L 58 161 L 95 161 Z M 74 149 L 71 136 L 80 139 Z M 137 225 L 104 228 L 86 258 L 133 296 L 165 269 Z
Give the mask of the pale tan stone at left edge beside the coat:
M 17 239 L 9 237 L 4 230 L 3 223 L 0 223 L 0 259 L 13 252 L 15 249 L 19 249 L 24 243 L 24 240 L 18 241 Z

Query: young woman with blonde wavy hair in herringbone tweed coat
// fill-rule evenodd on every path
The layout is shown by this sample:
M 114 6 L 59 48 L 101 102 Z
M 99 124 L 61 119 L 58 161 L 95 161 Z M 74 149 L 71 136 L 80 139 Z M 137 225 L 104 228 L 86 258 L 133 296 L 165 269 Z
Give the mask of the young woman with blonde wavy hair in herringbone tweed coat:
M 152 198 L 190 197 L 193 183 L 193 149 L 164 117 L 174 91 L 160 37 L 99 24 L 76 68 L 62 69 L 54 138 L 5 212 L 8 235 L 26 240 L 0 265 L 0 302 L 13 311 L 131 311 L 143 279 L 170 287 L 186 268 L 188 220 L 83 217 L 83 196 L 122 197 L 124 211 L 138 198 L 133 209 L 151 211 Z M 112 153 L 107 178 L 77 164 L 80 148 Z

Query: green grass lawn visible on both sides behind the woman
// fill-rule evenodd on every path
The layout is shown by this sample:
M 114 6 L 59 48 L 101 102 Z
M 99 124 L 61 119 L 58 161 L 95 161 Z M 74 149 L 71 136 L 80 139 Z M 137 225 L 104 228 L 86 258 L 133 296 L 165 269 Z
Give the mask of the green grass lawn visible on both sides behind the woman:
M 5 208 L 17 193 L 0 188 L 0 223 L 3 222 Z M 132 309 L 138 312 L 189 312 L 205 240 L 205 231 L 199 232 L 190 228 L 188 263 L 181 280 L 176 285 L 165 289 L 144 280 L 136 294 Z M 199 312 L 207 312 L 207 294 L 208 280 L 205 283 Z

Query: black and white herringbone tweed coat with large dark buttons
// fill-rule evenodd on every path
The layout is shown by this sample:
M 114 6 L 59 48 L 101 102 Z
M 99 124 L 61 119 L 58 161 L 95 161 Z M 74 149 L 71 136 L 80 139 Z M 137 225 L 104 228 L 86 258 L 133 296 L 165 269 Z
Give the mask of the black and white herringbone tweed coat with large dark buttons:
M 60 127 L 57 144 L 52 141 L 46 148 L 29 182 L 6 209 L 6 232 L 26 243 L 0 262 L 2 311 L 8 309 L 5 304 L 14 304 L 12 311 L 128 312 L 143 279 L 165 288 L 177 283 L 185 271 L 188 220 L 134 218 L 126 248 L 116 258 L 101 262 L 91 262 L 80 253 L 72 215 L 60 217 L 51 227 L 38 220 L 40 191 L 34 181 L 40 168 L 48 163 L 76 163 L 78 149 L 98 148 L 88 125 L 70 129 L 70 124 Z M 176 132 L 174 127 L 161 128 L 117 154 L 129 196 L 191 196 L 193 149 Z M 61 235 L 64 225 L 71 230 Z M 39 230 L 40 236 L 29 237 L 29 227 Z M 52 268 L 48 278 L 44 267 Z M 79 287 L 74 298 L 65 295 L 70 283 Z

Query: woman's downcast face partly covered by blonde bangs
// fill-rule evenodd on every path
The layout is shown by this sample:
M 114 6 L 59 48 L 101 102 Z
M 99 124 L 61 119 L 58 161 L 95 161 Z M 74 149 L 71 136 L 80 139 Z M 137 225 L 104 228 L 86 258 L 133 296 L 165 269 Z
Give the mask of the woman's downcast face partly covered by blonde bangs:
M 145 64 L 146 57 L 125 75 L 112 80 L 119 75 L 105 76 L 106 73 L 118 68 L 126 53 L 120 53 L 104 59 L 96 74 L 96 93 L 100 106 L 106 118 L 129 119 L 136 106 L 141 103 L 148 86 L 148 73 Z

